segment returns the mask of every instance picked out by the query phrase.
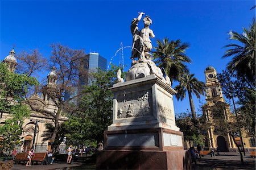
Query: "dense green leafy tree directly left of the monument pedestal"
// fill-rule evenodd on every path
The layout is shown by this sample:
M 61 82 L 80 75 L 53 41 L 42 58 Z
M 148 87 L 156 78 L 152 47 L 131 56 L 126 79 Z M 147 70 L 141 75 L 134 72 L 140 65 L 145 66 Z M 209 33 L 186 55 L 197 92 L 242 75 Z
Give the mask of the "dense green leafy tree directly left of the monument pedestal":
M 104 139 L 104 131 L 112 123 L 113 94 L 109 88 L 115 82 L 118 69 L 121 68 L 112 65 L 106 72 L 98 69 L 93 73 L 92 84 L 82 91 L 79 111 L 65 122 L 70 143 L 84 144 L 85 140 L 100 142 Z

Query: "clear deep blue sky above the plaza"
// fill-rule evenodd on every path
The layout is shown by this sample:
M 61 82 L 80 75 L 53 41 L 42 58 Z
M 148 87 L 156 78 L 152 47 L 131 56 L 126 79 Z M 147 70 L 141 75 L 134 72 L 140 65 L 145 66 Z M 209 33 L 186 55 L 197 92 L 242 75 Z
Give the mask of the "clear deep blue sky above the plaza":
M 0 60 L 15 44 L 15 52 L 38 48 L 51 55 L 52 43 L 61 43 L 86 53 L 98 52 L 108 60 L 120 48 L 131 46 L 130 23 L 144 12 L 152 19 L 150 28 L 156 39 L 181 39 L 191 47 L 187 55 L 193 63 L 191 73 L 205 82 L 204 69 L 212 65 L 220 73 L 230 59 L 221 59 L 224 45 L 231 43 L 229 30 L 242 33 L 249 27 L 255 1 L 0 1 Z M 143 28 L 143 23 L 139 23 Z M 131 48 L 123 50 L 124 63 L 130 67 Z M 113 63 L 122 63 L 121 53 Z M 46 72 L 47 73 L 47 72 Z M 46 76 L 44 74 L 43 76 Z M 177 85 L 174 83 L 173 87 Z M 204 97 L 201 98 L 204 103 Z M 194 97 L 196 108 L 199 99 Z M 190 111 L 188 98 L 174 100 L 175 113 Z

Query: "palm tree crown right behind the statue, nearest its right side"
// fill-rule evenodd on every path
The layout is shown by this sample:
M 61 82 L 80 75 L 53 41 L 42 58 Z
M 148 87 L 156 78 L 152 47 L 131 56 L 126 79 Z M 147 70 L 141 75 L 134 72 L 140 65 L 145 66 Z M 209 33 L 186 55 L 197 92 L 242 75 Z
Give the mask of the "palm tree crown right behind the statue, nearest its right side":
M 164 38 L 163 42 L 156 40 L 156 52 L 153 53 L 156 65 L 166 69 L 166 73 L 171 82 L 178 80 L 184 73 L 188 73 L 188 67 L 184 63 L 191 63 L 191 59 L 185 54 L 188 43 L 181 43 L 181 40 L 171 40 Z

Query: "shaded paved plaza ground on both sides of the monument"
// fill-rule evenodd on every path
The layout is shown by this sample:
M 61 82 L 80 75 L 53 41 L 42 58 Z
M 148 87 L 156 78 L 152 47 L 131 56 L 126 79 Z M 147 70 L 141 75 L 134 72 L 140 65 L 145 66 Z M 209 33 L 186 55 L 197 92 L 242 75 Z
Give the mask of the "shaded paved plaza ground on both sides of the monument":
M 237 153 L 221 153 L 216 157 L 210 157 L 210 155 L 205 155 L 201 159 L 197 159 L 197 165 L 193 164 L 192 169 L 210 169 L 210 170 L 222 170 L 222 169 L 255 169 L 255 158 L 252 158 L 249 154 L 243 156 L 243 161 L 245 165 L 241 165 L 240 155 Z M 52 165 L 32 165 L 31 167 L 26 167 L 22 164 L 14 164 L 11 169 L 95 169 L 96 164 L 92 163 L 55 163 Z

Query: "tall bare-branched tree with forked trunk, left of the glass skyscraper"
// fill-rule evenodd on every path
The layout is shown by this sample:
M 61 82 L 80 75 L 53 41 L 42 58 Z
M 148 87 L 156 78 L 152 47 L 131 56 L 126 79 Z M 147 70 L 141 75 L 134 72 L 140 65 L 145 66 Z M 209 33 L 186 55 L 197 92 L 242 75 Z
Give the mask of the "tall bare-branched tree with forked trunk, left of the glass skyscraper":
M 56 139 L 57 131 L 61 128 L 60 117 L 69 113 L 68 109 L 76 109 L 70 106 L 70 101 L 75 99 L 77 95 L 76 86 L 79 81 L 79 66 L 81 58 L 85 58 L 85 52 L 82 49 L 71 49 L 68 46 L 61 44 L 52 44 L 52 55 L 50 57 L 50 65 L 56 67 L 56 85 L 52 88 L 42 88 L 44 93 L 55 103 L 57 109 L 49 111 L 42 107 L 37 107 L 34 103 L 30 102 L 32 110 L 39 111 L 40 113 L 51 117 L 54 123 L 54 130 L 51 137 L 53 144 Z M 73 97 L 64 100 L 65 94 L 74 94 Z

